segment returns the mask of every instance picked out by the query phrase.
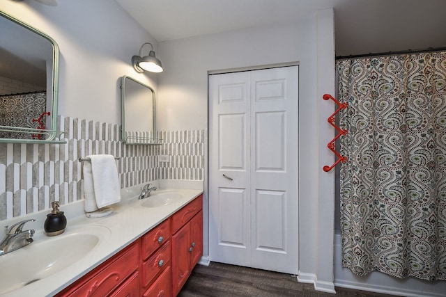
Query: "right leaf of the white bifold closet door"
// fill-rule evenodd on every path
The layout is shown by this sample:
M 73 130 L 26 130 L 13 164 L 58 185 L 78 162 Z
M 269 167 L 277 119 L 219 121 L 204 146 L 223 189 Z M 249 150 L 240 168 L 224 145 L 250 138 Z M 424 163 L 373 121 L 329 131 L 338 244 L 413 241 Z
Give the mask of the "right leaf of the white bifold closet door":
M 298 273 L 298 67 L 251 77 L 252 266 Z

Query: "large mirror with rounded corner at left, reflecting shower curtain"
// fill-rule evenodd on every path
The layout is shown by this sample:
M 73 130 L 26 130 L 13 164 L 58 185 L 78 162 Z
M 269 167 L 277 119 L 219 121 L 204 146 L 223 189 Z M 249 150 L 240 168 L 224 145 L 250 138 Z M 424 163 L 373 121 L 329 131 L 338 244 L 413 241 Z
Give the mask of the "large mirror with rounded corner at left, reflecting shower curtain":
M 59 47 L 0 10 L 0 143 L 65 143 L 55 131 Z

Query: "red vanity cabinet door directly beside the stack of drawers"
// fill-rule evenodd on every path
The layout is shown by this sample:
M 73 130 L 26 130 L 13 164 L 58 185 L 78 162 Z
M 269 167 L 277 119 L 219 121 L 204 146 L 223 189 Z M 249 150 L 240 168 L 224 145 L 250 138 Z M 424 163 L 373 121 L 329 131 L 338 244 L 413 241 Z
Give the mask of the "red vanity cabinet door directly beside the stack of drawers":
M 178 294 L 190 275 L 190 222 L 172 236 L 172 288 Z

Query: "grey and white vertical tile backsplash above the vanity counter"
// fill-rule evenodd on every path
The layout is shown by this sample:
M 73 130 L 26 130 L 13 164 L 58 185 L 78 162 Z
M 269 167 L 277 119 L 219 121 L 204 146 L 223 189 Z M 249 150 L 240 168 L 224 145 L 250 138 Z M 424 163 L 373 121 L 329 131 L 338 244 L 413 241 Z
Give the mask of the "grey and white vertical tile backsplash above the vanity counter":
M 66 144 L 0 143 L 0 220 L 48 209 L 54 200 L 82 199 L 82 163 L 89 154 L 112 154 L 121 188 L 153 179 L 203 179 L 204 131 L 158 131 L 162 145 L 124 145 L 120 126 L 64 118 Z M 158 155 L 169 155 L 159 163 Z

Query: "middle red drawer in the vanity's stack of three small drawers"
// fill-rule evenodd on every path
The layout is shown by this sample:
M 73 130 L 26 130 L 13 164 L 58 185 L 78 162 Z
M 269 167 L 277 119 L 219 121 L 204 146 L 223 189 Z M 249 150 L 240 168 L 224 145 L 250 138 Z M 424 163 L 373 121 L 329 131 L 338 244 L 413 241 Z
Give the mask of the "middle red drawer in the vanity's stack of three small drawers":
M 170 266 L 171 243 L 168 241 L 160 250 L 142 264 L 142 284 L 147 287 L 158 275 Z

